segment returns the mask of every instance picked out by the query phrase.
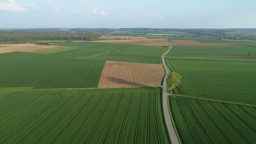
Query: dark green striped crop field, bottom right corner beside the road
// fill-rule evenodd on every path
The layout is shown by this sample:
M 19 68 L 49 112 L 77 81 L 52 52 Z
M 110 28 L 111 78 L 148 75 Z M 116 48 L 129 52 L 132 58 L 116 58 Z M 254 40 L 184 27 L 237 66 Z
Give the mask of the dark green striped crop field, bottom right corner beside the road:
M 256 105 L 181 96 L 169 104 L 181 143 L 256 143 Z

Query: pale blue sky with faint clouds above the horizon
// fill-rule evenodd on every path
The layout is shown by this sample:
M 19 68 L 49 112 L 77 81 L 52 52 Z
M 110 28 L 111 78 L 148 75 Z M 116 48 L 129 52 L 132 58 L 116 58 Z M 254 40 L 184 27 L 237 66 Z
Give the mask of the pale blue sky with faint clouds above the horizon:
M 0 0 L 0 28 L 256 28 L 255 0 Z

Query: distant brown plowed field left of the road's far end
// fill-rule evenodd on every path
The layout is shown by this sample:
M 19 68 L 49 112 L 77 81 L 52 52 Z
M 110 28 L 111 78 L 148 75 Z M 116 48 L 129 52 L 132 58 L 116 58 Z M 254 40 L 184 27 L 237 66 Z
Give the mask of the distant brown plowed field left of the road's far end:
M 156 39 L 142 39 L 142 40 L 97 40 L 91 42 L 105 42 L 105 43 L 126 43 L 126 44 L 139 44 L 145 46 L 169 46 L 169 43 L 165 38 L 156 38 Z

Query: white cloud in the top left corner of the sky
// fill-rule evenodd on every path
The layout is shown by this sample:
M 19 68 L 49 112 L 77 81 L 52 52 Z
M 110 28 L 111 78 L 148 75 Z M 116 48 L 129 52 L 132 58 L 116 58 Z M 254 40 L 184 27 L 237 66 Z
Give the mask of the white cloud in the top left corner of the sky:
M 26 12 L 26 8 L 18 5 L 14 0 L 0 0 L 0 10 L 12 12 Z

